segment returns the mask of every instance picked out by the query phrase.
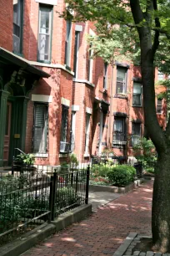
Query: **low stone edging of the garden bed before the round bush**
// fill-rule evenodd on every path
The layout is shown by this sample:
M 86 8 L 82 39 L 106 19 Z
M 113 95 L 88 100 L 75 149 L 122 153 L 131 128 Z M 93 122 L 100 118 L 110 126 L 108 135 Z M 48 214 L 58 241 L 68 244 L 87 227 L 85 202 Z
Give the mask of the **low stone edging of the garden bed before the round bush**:
M 141 178 L 129 184 L 127 187 L 89 185 L 89 190 L 93 192 L 128 193 L 133 191 L 133 189 L 139 187 L 143 182 L 145 182 L 145 179 Z

